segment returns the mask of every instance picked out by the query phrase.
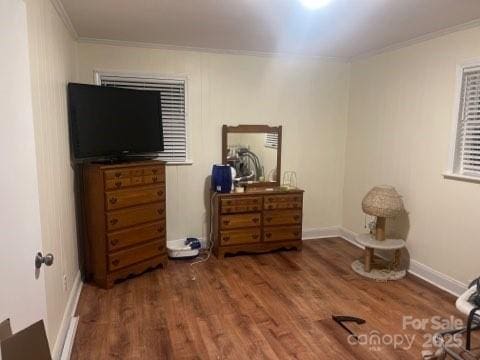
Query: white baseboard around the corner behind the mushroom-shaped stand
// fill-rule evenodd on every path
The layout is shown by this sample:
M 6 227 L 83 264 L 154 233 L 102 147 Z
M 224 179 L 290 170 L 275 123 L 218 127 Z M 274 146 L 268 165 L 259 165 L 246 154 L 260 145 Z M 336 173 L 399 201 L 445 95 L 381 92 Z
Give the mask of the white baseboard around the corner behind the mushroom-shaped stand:
M 357 234 L 342 226 L 331 226 L 319 229 L 307 229 L 303 232 L 303 240 L 321 239 L 326 237 L 341 237 L 352 245 L 363 248 L 355 241 Z M 448 275 L 445 275 L 435 269 L 428 267 L 421 262 L 410 259 L 408 272 L 422 280 L 444 290 L 452 295 L 459 296 L 467 290 L 467 284 L 464 284 Z

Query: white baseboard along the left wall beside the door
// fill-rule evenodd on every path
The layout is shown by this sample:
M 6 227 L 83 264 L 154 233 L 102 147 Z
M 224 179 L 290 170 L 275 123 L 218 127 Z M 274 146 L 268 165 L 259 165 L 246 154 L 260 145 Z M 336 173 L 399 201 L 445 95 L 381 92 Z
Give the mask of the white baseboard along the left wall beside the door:
M 64 360 L 70 358 L 69 353 L 65 354 L 67 357 L 65 357 L 63 353 L 65 350 L 68 352 L 71 351 L 73 340 L 75 339 L 76 324 L 74 324 L 72 327 L 72 319 L 74 319 L 75 310 L 77 309 L 78 299 L 80 298 L 80 293 L 82 291 L 82 285 L 83 283 L 79 271 L 73 282 L 72 289 L 70 290 L 67 306 L 65 307 L 62 323 L 60 324 L 60 330 L 58 331 L 57 340 L 53 346 L 53 360 Z M 71 331 L 73 331 L 73 333 L 71 333 Z M 71 343 L 69 344 L 67 341 L 70 341 Z

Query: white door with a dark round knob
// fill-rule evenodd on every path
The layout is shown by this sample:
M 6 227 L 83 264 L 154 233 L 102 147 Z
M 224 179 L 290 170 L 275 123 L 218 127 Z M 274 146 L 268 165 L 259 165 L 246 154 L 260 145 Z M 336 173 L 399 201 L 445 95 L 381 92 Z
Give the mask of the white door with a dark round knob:
M 26 8 L 0 0 L 0 321 L 46 317 Z

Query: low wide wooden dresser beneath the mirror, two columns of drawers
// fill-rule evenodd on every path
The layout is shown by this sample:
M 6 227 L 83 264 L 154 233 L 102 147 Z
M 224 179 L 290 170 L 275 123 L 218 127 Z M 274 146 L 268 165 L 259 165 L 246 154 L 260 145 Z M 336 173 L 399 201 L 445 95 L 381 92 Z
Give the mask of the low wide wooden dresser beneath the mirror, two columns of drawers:
M 303 190 L 214 195 L 214 252 L 225 254 L 302 248 Z

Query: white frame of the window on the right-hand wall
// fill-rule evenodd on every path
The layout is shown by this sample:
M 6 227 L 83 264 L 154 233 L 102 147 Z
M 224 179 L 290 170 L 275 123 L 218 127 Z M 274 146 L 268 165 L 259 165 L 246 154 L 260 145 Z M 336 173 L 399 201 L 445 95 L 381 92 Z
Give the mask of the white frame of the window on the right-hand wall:
M 464 174 L 456 170 L 456 149 L 458 141 L 458 123 L 460 121 L 460 106 L 462 104 L 462 89 L 463 89 L 463 75 L 465 70 L 479 68 L 480 69 L 480 59 L 468 61 L 462 64 L 457 65 L 456 71 L 456 86 L 455 86 L 455 102 L 453 107 L 453 119 L 452 119 L 452 128 L 451 128 L 451 140 L 450 140 L 450 151 L 448 156 L 448 166 L 447 170 L 444 171 L 443 176 L 447 179 L 453 180 L 463 180 L 468 182 L 478 182 L 480 183 L 480 174 Z

